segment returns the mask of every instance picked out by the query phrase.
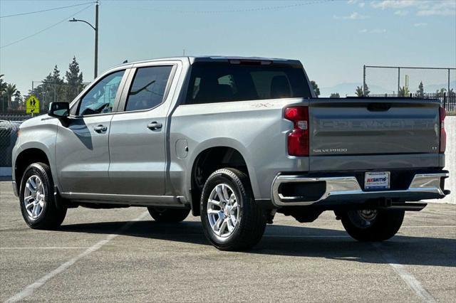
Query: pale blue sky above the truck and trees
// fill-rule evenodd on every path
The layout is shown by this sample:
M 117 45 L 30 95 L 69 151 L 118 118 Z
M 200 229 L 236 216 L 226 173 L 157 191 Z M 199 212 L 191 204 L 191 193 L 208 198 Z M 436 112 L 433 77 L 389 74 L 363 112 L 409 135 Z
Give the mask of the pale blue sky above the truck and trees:
M 89 1 L 0 0 L 0 16 Z M 81 9 L 87 9 L 81 11 Z M 76 55 L 93 79 L 94 5 L 0 18 L 0 73 L 24 94 Z M 456 66 L 456 0 L 100 1 L 99 73 L 128 59 L 254 55 L 301 60 L 320 87 L 360 83 L 363 64 Z M 453 73 L 452 75 L 455 75 Z M 380 78 L 389 75 L 375 75 Z M 445 74 L 436 76 L 445 83 Z M 442 81 L 440 81 L 442 78 Z M 375 82 L 372 80 L 371 82 Z

